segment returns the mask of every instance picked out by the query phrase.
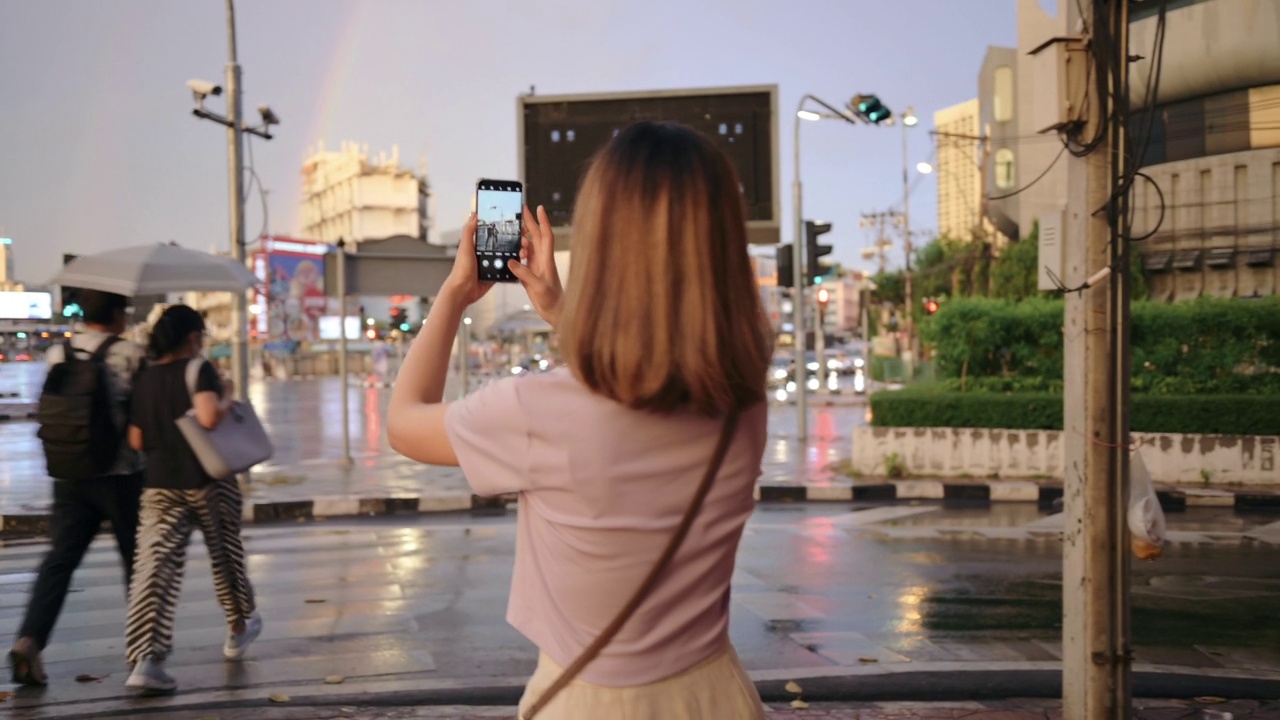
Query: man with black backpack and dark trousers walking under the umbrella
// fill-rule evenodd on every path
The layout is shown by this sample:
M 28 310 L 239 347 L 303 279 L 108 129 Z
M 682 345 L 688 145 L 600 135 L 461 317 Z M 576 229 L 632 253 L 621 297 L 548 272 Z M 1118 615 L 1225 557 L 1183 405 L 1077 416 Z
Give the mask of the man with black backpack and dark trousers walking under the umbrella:
M 134 374 L 146 352 L 122 340 L 128 299 L 86 290 L 84 327 L 49 348 L 49 377 L 40 393 L 37 436 L 54 478 L 49 519 L 52 547 L 40 565 L 18 639 L 9 651 L 13 682 L 47 683 L 41 652 L 61 612 L 72 574 L 99 533 L 111 523 L 124 568 L 133 574 L 142 460 L 128 446 L 125 427 Z

